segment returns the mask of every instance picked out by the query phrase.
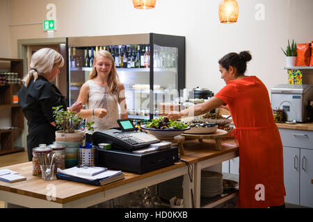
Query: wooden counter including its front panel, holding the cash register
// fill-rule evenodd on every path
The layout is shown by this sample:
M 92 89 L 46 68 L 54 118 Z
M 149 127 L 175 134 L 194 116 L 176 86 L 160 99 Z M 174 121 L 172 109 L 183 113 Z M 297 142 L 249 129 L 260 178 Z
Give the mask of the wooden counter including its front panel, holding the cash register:
M 204 139 L 202 143 L 197 141 L 193 139 L 184 143 L 185 155 L 181 158 L 190 164 L 214 160 L 214 158 L 224 157 L 238 151 L 234 145 L 234 139 L 223 140 L 222 151 L 216 150 L 213 139 Z M 88 207 L 177 176 L 184 175 L 188 178 L 188 167 L 184 162 L 176 162 L 170 167 L 144 174 L 125 172 L 125 179 L 102 187 L 67 180 L 42 180 L 41 176 L 32 175 L 31 162 L 1 169 L 17 171 L 20 175 L 26 176 L 27 180 L 15 183 L 0 181 L 0 200 L 26 207 Z M 191 185 L 186 185 L 188 186 Z M 50 189 L 54 187 L 54 200 L 47 200 L 47 196 L 51 195 L 49 187 Z

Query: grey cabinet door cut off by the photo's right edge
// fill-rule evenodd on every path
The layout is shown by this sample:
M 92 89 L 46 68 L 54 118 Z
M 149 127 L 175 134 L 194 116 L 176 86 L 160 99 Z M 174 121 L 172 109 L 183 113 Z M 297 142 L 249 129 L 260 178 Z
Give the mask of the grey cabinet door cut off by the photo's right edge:
M 300 205 L 313 207 L 313 150 L 300 149 Z

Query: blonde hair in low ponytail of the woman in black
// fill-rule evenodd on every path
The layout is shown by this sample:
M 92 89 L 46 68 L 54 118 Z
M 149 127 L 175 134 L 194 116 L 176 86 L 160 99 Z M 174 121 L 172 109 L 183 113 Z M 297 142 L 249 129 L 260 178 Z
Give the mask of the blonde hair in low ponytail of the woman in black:
M 32 78 L 35 82 L 35 80 L 38 79 L 38 75 L 50 78 L 49 74 L 56 65 L 58 65 L 58 67 L 63 67 L 64 65 L 64 59 L 60 53 L 49 48 L 36 51 L 33 53 L 33 56 L 31 56 L 31 64 L 29 65 L 31 69 L 23 79 L 24 85 L 27 87 Z

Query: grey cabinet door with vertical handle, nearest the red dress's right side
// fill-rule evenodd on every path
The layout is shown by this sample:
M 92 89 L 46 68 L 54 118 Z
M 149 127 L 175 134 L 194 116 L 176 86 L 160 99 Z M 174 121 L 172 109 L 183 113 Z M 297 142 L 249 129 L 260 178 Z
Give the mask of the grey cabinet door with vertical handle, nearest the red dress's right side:
M 284 187 L 286 203 L 299 205 L 300 149 L 284 146 Z

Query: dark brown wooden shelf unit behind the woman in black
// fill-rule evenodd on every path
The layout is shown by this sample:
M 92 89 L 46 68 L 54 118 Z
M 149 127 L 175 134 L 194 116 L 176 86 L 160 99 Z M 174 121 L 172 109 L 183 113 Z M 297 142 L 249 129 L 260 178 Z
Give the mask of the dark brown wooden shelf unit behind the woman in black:
M 0 62 L 6 67 L 3 71 L 18 73 L 19 78 L 23 78 L 23 60 L 0 58 Z M 0 110 L 10 110 L 10 116 L 2 116 L 1 119 L 10 119 L 11 123 L 8 129 L 1 130 L 3 126 L 0 125 L 0 155 L 24 151 L 24 147 L 16 144 L 18 137 L 22 138 L 24 115 L 22 108 L 13 103 L 13 95 L 17 95 L 21 86 L 22 83 L 0 83 Z

